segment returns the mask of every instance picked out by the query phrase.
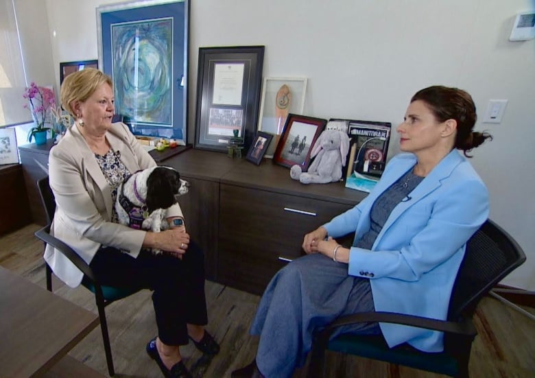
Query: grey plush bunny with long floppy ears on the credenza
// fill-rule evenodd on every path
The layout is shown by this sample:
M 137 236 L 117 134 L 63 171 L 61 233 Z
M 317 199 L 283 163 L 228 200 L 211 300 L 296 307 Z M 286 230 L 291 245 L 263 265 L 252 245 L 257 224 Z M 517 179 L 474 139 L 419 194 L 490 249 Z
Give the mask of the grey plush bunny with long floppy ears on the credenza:
M 326 184 L 342 178 L 346 165 L 349 137 L 340 130 L 325 130 L 314 143 L 310 156 L 316 156 L 308 172 L 301 172 L 299 165 L 290 169 L 290 177 L 303 184 Z

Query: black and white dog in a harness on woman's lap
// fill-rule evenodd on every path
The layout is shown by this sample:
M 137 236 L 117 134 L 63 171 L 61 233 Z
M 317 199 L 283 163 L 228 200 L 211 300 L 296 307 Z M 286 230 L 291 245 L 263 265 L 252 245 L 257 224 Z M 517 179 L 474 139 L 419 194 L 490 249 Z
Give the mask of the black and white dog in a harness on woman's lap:
M 128 176 L 117 188 L 119 223 L 158 233 L 169 228 L 165 209 L 188 192 L 189 182 L 171 167 L 152 167 Z M 160 250 L 152 249 L 158 254 Z

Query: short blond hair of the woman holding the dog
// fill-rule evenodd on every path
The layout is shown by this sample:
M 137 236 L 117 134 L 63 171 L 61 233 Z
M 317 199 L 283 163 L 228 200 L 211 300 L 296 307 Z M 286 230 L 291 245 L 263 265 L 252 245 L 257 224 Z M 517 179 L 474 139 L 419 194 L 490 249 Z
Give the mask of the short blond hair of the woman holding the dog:
M 72 117 L 77 119 L 78 115 L 74 113 L 72 108 L 73 102 L 86 101 L 86 99 L 91 97 L 102 84 L 109 84 L 109 86 L 113 88 L 111 78 L 106 75 L 106 73 L 97 69 L 86 68 L 82 69 L 82 71 L 71 73 L 61 84 L 61 106 L 63 106 Z

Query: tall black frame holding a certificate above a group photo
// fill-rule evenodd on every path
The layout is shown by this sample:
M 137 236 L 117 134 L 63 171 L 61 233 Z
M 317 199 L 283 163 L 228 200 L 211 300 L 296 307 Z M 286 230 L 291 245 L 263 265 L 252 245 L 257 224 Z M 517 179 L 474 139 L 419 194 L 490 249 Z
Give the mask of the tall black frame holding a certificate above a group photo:
M 200 47 L 195 148 L 227 152 L 243 138 L 246 150 L 257 131 L 263 46 Z

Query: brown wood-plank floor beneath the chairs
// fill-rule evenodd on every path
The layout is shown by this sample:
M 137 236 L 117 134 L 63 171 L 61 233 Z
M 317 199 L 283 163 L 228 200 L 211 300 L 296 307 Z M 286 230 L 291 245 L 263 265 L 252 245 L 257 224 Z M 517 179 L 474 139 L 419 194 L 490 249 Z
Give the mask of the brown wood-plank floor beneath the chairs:
M 33 236 L 37 229 L 29 225 L 0 237 L 0 265 L 45 287 L 43 244 Z M 71 289 L 58 281 L 54 287 L 58 288 L 56 294 L 96 313 L 93 294 L 88 290 Z M 207 281 L 206 297 L 210 319 L 207 328 L 220 342 L 222 351 L 206 359 L 189 344 L 183 347 L 182 355 L 194 377 L 230 377 L 231 371 L 254 358 L 257 338 L 248 335 L 248 327 L 259 296 Z M 535 309 L 525 309 L 535 314 Z M 158 366 L 145 353 L 145 344 L 156 335 L 150 292 L 139 292 L 114 303 L 107 307 L 106 314 L 115 377 L 161 377 Z M 472 377 L 535 377 L 535 322 L 493 298 L 484 298 L 475 323 L 479 335 L 472 349 Z M 108 375 L 99 327 L 69 355 Z M 337 353 L 329 353 L 328 364 L 329 377 L 441 377 Z M 296 371 L 294 378 L 305 377 L 305 373 L 306 367 Z

